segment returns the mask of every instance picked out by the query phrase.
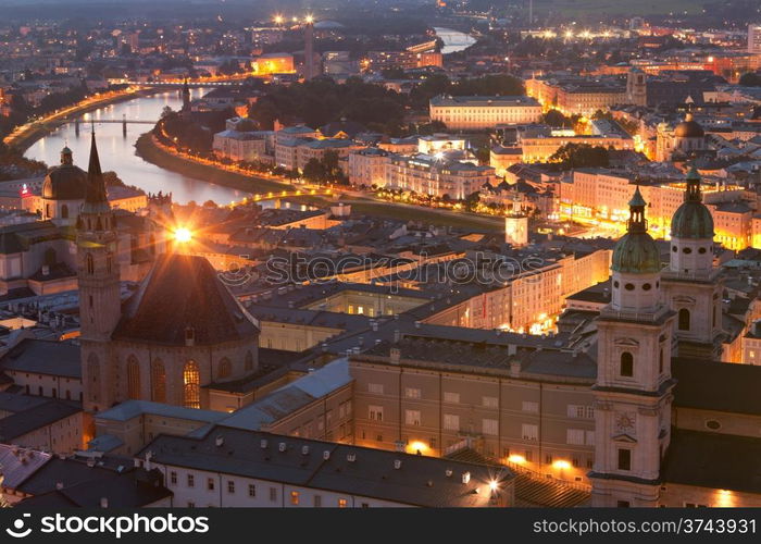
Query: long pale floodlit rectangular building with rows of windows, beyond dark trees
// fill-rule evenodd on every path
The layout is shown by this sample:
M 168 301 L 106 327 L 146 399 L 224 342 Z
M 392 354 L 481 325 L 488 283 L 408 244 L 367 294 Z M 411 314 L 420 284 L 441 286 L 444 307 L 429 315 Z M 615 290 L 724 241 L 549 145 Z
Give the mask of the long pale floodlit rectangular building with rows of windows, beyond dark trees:
M 494 128 L 497 125 L 536 123 L 541 106 L 531 97 L 453 97 L 431 99 L 431 120 L 440 121 L 454 131 Z

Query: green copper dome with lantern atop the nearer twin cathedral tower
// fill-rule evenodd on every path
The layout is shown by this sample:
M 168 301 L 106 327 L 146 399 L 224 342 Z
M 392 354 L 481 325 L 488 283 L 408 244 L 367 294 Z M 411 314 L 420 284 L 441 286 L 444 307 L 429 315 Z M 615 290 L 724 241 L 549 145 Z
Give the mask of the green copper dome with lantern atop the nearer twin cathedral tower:
M 627 274 L 650 274 L 661 271 L 661 255 L 656 240 L 647 233 L 645 207 L 647 202 L 635 190 L 629 206 L 628 232 L 621 237 L 613 249 L 611 270 Z

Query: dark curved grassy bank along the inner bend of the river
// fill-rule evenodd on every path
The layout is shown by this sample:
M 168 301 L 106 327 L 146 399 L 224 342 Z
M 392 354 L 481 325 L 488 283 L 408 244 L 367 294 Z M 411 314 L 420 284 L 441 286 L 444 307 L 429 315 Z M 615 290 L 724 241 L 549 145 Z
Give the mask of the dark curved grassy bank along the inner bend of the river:
M 157 145 L 151 133 L 142 134 L 137 139 L 135 144 L 135 153 L 142 160 L 155 164 L 161 169 L 223 187 L 244 190 L 246 193 L 263 194 L 270 191 L 295 190 L 295 187 L 290 184 L 228 172 L 213 165 L 201 164 L 191 159 L 164 151 Z M 167 190 L 169 189 L 167 187 Z M 217 203 L 224 205 L 227 202 Z

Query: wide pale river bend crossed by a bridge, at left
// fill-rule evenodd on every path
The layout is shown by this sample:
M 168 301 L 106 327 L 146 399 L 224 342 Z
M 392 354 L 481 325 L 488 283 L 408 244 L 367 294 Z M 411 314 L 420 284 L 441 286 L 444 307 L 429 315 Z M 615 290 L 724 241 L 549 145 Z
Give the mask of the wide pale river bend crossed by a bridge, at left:
M 192 98 L 199 98 L 210 89 L 191 89 Z M 62 125 L 55 132 L 35 141 L 26 151 L 26 157 L 45 161 L 49 166 L 60 162 L 61 149 L 68 146 L 74 153 L 74 162 L 87 170 L 90 156 L 90 120 L 95 122 L 96 137 L 100 164 L 103 171 L 113 170 L 127 185 L 134 185 L 147 193 L 172 193 L 173 200 L 187 203 L 195 200 L 198 203 L 214 200 L 217 203 L 229 203 L 240 200 L 248 194 L 241 190 L 213 185 L 203 180 L 196 180 L 182 174 L 163 170 L 135 154 L 135 141 L 140 134 L 152 128 L 149 124 L 127 124 L 127 135 L 122 133 L 122 123 L 99 123 L 100 120 L 158 121 L 161 111 L 169 106 L 173 110 L 182 107 L 177 90 L 161 92 L 149 97 L 136 98 L 127 102 L 105 106 L 79 118 L 79 135 L 74 123 Z

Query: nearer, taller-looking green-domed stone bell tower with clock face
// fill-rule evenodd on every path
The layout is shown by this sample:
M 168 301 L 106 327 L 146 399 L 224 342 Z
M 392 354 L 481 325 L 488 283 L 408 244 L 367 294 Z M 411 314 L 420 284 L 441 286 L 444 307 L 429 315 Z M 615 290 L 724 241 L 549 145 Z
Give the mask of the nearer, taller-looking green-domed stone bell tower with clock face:
M 637 187 L 613 251 L 611 302 L 597 320 L 592 506 L 657 506 L 670 442 L 674 312 L 661 301 L 646 206 Z

